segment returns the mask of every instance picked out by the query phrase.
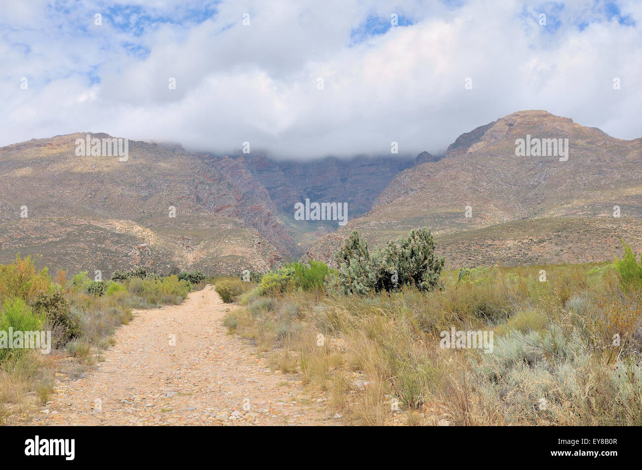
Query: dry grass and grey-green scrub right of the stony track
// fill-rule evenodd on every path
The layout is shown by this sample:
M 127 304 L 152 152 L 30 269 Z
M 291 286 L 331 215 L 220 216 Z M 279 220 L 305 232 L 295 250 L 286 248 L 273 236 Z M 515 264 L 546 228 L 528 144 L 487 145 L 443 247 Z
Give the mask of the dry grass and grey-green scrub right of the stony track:
M 256 288 L 225 324 L 355 424 L 642 424 L 642 299 L 613 265 L 442 281 L 367 296 Z M 492 332 L 492 352 L 442 347 L 452 328 Z

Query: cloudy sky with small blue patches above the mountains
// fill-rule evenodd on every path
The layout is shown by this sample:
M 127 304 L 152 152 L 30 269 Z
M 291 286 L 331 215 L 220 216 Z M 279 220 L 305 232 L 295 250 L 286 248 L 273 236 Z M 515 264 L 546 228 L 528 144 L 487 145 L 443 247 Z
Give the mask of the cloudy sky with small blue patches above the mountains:
M 440 154 L 526 109 L 638 138 L 641 105 L 639 0 L 0 0 L 0 146 Z

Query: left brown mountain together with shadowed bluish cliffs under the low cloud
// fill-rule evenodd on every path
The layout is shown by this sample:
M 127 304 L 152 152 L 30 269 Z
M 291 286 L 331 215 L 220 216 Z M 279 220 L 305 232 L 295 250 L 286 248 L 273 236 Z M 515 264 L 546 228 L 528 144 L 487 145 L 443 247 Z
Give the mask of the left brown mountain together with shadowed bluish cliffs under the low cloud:
M 129 158 L 78 156 L 87 133 L 0 148 L 0 262 L 42 255 L 52 269 L 142 265 L 168 272 L 266 271 L 298 258 L 332 224 L 294 220 L 306 197 L 367 212 L 408 159 L 277 162 L 129 140 Z M 103 133 L 91 138 L 112 138 Z M 170 206 L 175 217 L 170 217 Z M 21 217 L 21 208 L 27 217 Z

